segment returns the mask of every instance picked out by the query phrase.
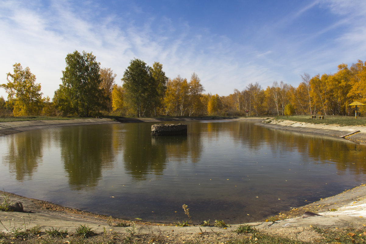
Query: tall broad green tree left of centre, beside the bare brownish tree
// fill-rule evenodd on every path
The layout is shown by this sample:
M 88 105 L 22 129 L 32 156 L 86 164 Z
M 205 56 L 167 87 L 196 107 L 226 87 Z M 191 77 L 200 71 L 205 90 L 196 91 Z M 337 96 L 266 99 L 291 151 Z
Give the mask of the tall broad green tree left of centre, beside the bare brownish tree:
M 62 84 L 56 90 L 53 101 L 64 115 L 89 117 L 105 105 L 101 89 L 100 63 L 92 53 L 68 53 L 66 68 L 62 71 Z

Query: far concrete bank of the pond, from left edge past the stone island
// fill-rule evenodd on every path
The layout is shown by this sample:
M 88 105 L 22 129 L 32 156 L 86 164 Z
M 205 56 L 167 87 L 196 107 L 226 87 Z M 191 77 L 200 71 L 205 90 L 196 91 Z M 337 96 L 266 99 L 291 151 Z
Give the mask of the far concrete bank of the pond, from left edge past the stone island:
M 26 130 L 43 129 L 61 126 L 76 125 L 97 125 L 108 123 L 136 123 L 136 122 L 171 122 L 171 121 L 217 121 L 217 120 L 249 120 L 263 121 L 265 118 L 245 118 L 245 117 L 188 117 L 188 118 L 119 118 L 117 121 L 107 118 L 95 119 L 69 119 L 69 120 L 30 120 L 0 122 L 0 136 L 6 136 L 23 132 Z

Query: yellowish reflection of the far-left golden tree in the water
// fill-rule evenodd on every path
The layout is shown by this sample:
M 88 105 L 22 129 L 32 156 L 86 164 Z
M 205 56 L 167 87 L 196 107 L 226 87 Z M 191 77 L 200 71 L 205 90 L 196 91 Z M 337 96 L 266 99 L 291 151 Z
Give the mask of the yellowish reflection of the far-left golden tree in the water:
M 8 154 L 4 155 L 3 160 L 9 164 L 10 172 L 15 172 L 16 180 L 30 180 L 38 163 L 42 163 L 43 134 L 37 130 L 8 137 Z

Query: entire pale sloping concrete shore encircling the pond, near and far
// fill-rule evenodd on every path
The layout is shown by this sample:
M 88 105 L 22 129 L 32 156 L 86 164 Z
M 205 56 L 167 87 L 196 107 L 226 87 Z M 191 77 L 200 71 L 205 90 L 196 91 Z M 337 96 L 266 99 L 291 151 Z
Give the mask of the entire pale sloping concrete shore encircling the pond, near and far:
M 197 120 L 202 118 L 196 118 Z M 176 121 L 196 120 L 177 118 Z M 206 118 L 207 119 L 207 118 Z M 213 118 L 222 119 L 222 118 Z M 244 118 L 231 118 L 244 119 Z M 250 118 L 253 120 L 253 118 Z M 138 120 L 138 121 L 136 121 Z M 254 118 L 254 120 L 262 121 L 262 118 Z M 158 121 L 175 121 L 174 119 L 126 119 L 121 122 L 158 122 Z M 74 121 L 21 121 L 21 122 L 3 122 L 0 123 L 0 135 L 17 133 L 30 129 L 40 129 L 56 126 L 85 125 L 97 123 L 119 123 L 111 119 L 77 119 Z M 360 130 L 358 137 L 347 137 L 350 140 L 364 143 L 365 128 L 354 126 L 336 126 L 336 125 L 313 125 L 309 123 L 296 123 L 293 121 L 279 121 L 271 123 L 260 123 L 261 125 L 276 128 L 297 130 L 300 132 L 311 132 L 339 136 Z M 270 125 L 270 126 L 269 126 Z M 356 139 L 355 139 L 356 138 Z M 124 227 L 113 227 L 118 222 L 126 221 L 122 219 L 111 219 L 106 216 L 97 215 L 89 212 L 79 211 L 71 208 L 65 208 L 53 203 L 45 202 L 37 199 L 29 199 L 26 197 L 5 193 L 12 201 L 20 201 L 23 203 L 25 212 L 4 212 L 0 211 L 0 231 L 6 232 L 6 227 L 11 225 L 21 226 L 24 222 L 29 226 L 40 225 L 42 230 L 52 227 L 60 227 L 75 231 L 80 225 L 88 225 L 97 233 L 107 229 L 109 231 L 117 231 L 125 233 Z M 2 198 L 0 199 L 2 200 Z M 1 201 L 2 202 L 2 201 Z M 332 211 L 330 211 L 332 210 Z M 322 216 L 302 218 L 305 211 L 317 212 Z M 365 228 L 366 226 L 366 185 L 357 186 L 347 190 L 336 196 L 321 199 L 318 202 L 283 212 L 276 216 L 280 221 L 272 222 L 255 222 L 250 223 L 255 228 L 265 233 L 280 234 L 286 237 L 297 238 L 299 240 L 314 240 L 318 234 L 310 226 L 319 228 Z M 165 233 L 172 236 L 172 233 L 180 236 L 179 238 L 188 238 L 197 233 L 203 232 L 220 232 L 232 233 L 239 224 L 232 225 L 230 228 L 222 229 L 213 226 L 190 226 L 177 227 L 163 223 L 135 222 L 138 233 Z M 112 226 L 112 227 L 111 227 Z M 183 237 L 182 237 L 183 236 Z M 178 237 L 177 237 L 178 238 Z M 305 238 L 305 239 L 304 239 Z M 307 240 L 307 239 L 306 239 Z

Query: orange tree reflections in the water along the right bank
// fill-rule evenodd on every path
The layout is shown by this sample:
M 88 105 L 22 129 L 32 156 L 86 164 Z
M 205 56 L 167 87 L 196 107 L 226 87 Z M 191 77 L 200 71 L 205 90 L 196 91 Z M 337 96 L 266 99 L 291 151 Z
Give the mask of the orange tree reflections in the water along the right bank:
M 241 124 L 236 128 L 233 124 L 231 133 L 249 148 L 266 144 L 272 154 L 278 157 L 284 153 L 298 152 L 304 163 L 335 163 L 339 174 L 346 170 L 355 175 L 366 173 L 363 160 L 366 158 L 366 150 L 363 145 L 318 134 L 268 129 L 253 123 Z

